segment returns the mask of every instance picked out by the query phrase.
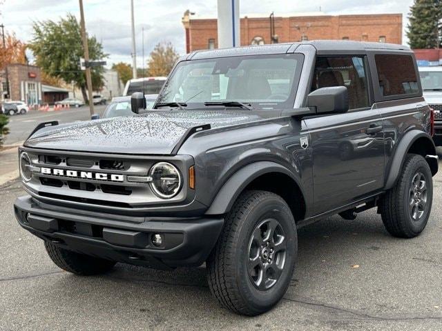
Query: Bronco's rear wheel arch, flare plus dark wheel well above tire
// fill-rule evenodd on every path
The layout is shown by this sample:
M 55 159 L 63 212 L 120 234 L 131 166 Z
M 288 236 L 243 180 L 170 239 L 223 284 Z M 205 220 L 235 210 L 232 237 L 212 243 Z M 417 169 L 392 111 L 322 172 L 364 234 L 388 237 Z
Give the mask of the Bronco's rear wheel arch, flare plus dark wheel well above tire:
M 405 156 L 409 153 L 421 155 L 430 166 L 433 176 L 438 171 L 437 159 L 434 157 L 427 157 L 428 155 L 436 155 L 436 147 L 434 146 L 432 138 L 427 133 L 420 130 L 411 130 L 403 136 L 396 148 L 387 180 L 385 181 L 386 190 L 392 188 L 396 183 L 403 162 L 405 161 Z

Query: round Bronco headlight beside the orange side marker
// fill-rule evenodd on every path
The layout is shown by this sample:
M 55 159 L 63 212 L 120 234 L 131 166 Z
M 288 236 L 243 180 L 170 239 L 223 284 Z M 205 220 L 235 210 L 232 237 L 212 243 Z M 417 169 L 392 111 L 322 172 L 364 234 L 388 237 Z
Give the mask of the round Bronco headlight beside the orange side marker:
M 158 197 L 170 199 L 180 192 L 181 174 L 171 163 L 156 163 L 151 168 L 149 175 L 152 177 L 151 188 Z

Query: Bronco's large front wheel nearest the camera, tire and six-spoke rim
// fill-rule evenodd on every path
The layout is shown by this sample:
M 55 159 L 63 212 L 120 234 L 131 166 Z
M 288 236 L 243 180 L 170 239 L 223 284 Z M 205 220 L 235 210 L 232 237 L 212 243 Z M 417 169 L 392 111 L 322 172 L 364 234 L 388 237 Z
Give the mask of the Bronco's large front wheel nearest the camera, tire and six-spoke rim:
M 263 237 L 269 237 L 274 221 L 279 225 L 273 228 L 273 240 L 269 239 L 270 245 L 266 246 Z M 227 214 L 222 234 L 206 263 L 209 288 L 220 305 L 248 316 L 267 312 L 276 305 L 293 274 L 298 248 L 296 233 L 294 217 L 281 197 L 257 190 L 242 193 Z M 281 238 L 279 245 L 274 244 Z M 258 241 L 263 245 L 258 245 Z M 285 251 L 280 250 L 282 243 Z M 269 253 L 267 257 L 265 252 Z M 249 263 L 256 264 L 250 273 Z M 267 278 L 262 269 L 265 265 L 273 279 L 263 280 Z

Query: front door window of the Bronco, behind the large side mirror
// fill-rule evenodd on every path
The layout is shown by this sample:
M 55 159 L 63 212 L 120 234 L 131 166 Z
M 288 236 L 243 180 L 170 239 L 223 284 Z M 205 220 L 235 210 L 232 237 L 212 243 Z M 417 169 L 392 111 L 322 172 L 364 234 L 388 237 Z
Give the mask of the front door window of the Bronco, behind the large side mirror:
M 318 57 L 311 90 L 345 86 L 349 109 L 369 107 L 365 57 Z

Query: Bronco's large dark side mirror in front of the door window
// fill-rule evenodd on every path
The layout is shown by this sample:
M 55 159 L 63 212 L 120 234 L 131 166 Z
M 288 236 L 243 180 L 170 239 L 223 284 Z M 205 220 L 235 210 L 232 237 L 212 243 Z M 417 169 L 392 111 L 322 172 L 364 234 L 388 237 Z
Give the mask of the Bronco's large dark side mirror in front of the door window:
M 315 108 L 316 114 L 347 112 L 347 88 L 345 86 L 318 88 L 307 96 L 307 107 Z

